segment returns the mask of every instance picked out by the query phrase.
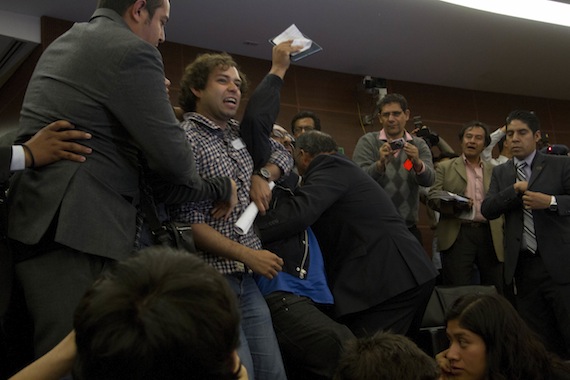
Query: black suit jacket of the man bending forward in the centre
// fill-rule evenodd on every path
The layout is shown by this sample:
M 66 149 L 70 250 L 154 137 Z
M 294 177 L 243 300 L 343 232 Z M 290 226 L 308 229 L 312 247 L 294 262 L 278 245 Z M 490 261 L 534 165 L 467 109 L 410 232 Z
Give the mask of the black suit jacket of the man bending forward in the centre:
M 366 310 L 436 275 L 392 201 L 368 174 L 339 154 L 311 162 L 295 197 L 260 227 L 279 240 L 311 226 L 321 245 L 337 317 Z

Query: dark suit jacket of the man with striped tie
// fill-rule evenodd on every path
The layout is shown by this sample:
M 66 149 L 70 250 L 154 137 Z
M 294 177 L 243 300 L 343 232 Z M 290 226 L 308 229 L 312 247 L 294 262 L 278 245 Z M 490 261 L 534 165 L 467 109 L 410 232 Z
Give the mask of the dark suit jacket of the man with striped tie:
M 513 160 L 493 169 L 481 211 L 487 219 L 505 215 L 505 281 L 513 279 L 523 231 L 522 199 L 515 193 Z M 536 153 L 528 190 L 556 196 L 558 211 L 533 210 L 538 250 L 552 279 L 570 282 L 570 158 Z

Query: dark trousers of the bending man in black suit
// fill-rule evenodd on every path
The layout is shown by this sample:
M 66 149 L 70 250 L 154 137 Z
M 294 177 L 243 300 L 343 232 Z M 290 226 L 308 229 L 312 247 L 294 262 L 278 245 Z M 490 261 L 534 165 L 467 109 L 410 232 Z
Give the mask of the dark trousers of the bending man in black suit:
M 381 304 L 340 318 L 357 337 L 391 331 L 417 339 L 422 318 L 435 286 L 435 279 L 398 294 Z

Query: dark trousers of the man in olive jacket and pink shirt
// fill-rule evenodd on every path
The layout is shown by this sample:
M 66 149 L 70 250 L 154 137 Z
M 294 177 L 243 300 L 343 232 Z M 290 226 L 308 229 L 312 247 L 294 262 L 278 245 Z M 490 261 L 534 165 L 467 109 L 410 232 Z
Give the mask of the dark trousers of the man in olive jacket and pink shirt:
M 474 265 L 479 269 L 477 282 Z M 495 285 L 503 294 L 503 264 L 497 259 L 487 223 L 462 224 L 455 243 L 441 252 L 443 285 Z

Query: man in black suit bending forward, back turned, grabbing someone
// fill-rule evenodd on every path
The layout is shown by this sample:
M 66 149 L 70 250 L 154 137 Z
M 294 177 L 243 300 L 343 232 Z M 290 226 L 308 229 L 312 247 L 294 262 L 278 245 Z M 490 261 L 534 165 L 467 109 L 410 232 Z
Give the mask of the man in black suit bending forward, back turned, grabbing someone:
M 356 336 L 390 329 L 414 335 L 436 270 L 386 192 L 327 134 L 296 142 L 303 184 L 259 225 L 270 242 L 311 226 L 323 252 L 334 316 Z

